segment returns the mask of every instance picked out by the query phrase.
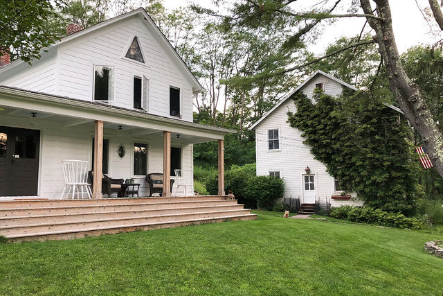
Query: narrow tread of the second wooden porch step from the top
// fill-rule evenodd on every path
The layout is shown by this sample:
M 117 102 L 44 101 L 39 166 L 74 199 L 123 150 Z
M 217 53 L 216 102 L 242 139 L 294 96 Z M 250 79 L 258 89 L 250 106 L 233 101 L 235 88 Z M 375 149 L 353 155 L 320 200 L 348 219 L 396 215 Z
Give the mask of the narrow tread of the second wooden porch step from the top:
M 123 211 L 91 211 L 86 213 L 68 213 L 68 214 L 46 214 L 46 215 L 28 215 L 28 216 L 7 216 L 0 217 L 1 220 L 12 220 L 12 219 L 26 219 L 26 218 L 50 218 L 50 217 L 66 217 L 66 216 L 80 216 L 80 215 L 102 215 L 102 214 L 120 214 L 120 213 L 138 213 L 143 211 L 168 211 L 168 210 L 178 210 L 178 209 L 201 209 L 201 208 L 215 208 L 215 207 L 239 207 L 244 206 L 244 204 L 219 204 L 219 205 L 207 205 L 201 207 L 183 207 L 183 208 L 164 208 L 164 209 L 130 209 Z

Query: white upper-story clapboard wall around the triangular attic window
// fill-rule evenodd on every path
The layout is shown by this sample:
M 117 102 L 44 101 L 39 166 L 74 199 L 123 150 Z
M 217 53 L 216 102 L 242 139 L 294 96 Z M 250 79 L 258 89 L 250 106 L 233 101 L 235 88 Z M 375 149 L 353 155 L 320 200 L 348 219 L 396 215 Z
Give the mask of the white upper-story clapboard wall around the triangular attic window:
M 145 64 L 124 57 L 129 43 L 138 37 Z M 111 105 L 132 109 L 133 77 L 145 76 L 149 91 L 145 109 L 152 114 L 169 115 L 169 88 L 182 87 L 182 118 L 192 121 L 192 87 L 189 76 L 177 59 L 159 40 L 153 29 L 138 17 L 78 37 L 59 46 L 59 94 L 84 101 L 93 98 L 93 64 L 115 67 L 115 98 Z

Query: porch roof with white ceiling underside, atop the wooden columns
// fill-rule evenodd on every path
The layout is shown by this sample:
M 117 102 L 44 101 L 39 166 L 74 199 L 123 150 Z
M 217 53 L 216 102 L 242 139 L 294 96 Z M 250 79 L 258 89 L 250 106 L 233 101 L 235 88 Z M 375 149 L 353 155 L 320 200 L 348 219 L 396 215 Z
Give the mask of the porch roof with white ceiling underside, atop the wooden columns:
M 74 126 L 93 130 L 93 122 L 104 121 L 105 134 L 128 135 L 149 139 L 162 137 L 163 131 L 172 132 L 172 144 L 201 143 L 223 139 L 235 132 L 178 119 L 126 110 L 102 103 L 62 98 L 0 86 L 0 107 L 4 114 L 30 121 L 51 121 L 61 127 Z M 33 117 L 35 112 L 35 117 Z M 121 126 L 121 129 L 120 129 Z

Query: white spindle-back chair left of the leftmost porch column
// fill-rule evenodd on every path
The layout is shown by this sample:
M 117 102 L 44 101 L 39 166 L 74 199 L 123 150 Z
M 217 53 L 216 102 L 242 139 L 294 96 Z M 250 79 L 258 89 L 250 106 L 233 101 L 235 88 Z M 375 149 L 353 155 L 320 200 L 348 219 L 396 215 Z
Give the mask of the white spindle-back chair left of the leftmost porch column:
M 88 168 L 89 162 L 82 160 L 64 160 L 62 161 L 63 176 L 64 176 L 64 189 L 60 199 L 66 194 L 66 199 L 71 196 L 72 199 L 75 195 L 78 198 L 84 198 L 84 194 L 91 199 L 92 191 L 91 186 L 88 184 Z M 66 191 L 66 189 L 69 189 Z M 71 192 L 72 191 L 72 192 Z

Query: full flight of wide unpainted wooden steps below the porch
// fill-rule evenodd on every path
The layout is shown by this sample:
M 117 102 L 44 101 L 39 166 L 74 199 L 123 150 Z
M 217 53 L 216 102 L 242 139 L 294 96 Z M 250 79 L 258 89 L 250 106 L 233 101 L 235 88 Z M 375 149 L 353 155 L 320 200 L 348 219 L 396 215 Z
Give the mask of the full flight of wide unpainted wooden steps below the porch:
M 0 201 L 0 236 L 46 241 L 256 217 L 237 200 L 228 200 L 228 195 L 5 200 Z

